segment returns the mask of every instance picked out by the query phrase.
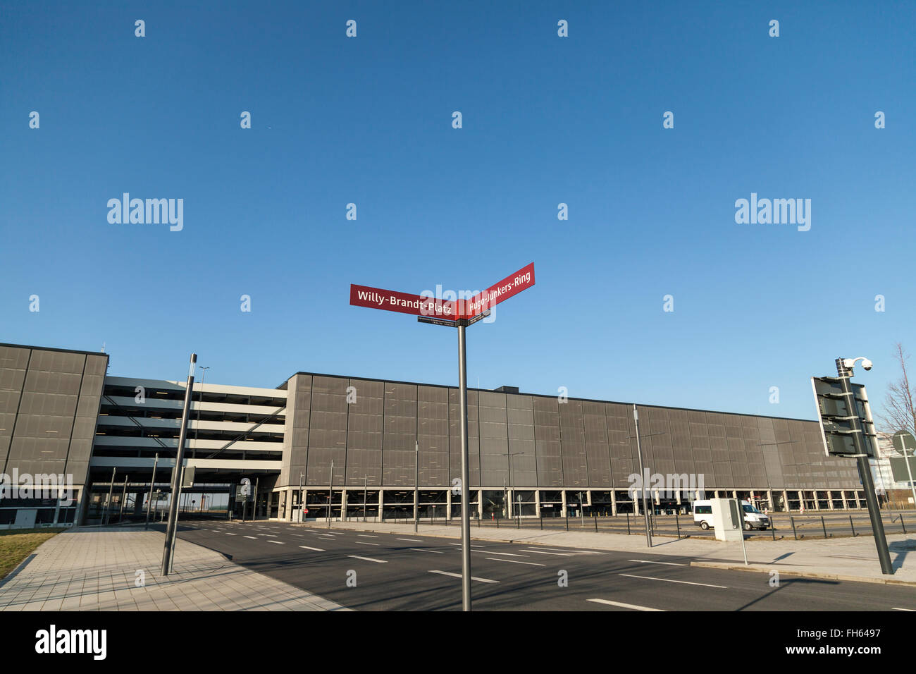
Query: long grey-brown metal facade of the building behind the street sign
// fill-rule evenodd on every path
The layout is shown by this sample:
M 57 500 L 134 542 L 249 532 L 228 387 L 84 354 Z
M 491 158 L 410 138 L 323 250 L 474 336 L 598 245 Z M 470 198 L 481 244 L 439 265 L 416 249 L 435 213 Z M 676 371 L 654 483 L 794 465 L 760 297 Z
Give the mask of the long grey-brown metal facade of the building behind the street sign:
M 458 390 L 298 373 L 289 389 L 277 487 L 420 487 L 460 475 Z M 347 402 L 348 392 L 351 402 Z M 638 405 L 652 473 L 703 475 L 710 489 L 857 489 L 853 461 L 828 459 L 817 422 Z M 470 390 L 472 487 L 626 489 L 638 473 L 632 405 Z M 511 465 L 510 465 L 511 464 Z M 510 474 L 511 470 L 511 474 Z

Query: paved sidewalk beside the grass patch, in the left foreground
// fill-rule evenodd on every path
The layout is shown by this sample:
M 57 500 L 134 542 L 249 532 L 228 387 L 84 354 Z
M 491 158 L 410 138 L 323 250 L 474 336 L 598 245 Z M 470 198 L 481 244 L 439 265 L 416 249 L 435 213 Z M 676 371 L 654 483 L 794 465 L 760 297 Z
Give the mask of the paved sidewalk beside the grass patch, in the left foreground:
M 174 569 L 162 577 L 164 540 L 114 527 L 58 534 L 0 580 L 0 611 L 348 610 L 180 539 Z M 144 587 L 136 587 L 137 570 Z

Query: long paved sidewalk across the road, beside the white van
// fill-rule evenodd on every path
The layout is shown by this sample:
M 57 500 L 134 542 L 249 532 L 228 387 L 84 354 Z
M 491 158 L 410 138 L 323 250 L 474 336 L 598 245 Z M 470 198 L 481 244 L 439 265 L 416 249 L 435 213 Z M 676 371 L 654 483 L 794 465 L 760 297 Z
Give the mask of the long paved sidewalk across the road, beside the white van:
M 308 525 L 304 525 L 308 526 Z M 316 523 L 318 528 L 326 523 Z M 333 529 L 398 532 L 412 534 L 413 525 L 380 524 L 377 522 L 332 523 Z M 452 525 L 420 525 L 421 536 L 461 538 L 457 522 Z M 744 564 L 741 543 L 725 543 L 708 538 L 673 538 L 653 536 L 652 548 L 646 547 L 645 534 L 627 536 L 588 531 L 540 531 L 532 529 L 492 528 L 471 526 L 471 537 L 554 547 L 585 547 L 594 550 L 616 550 L 630 553 L 650 553 L 692 558 L 693 566 L 724 569 L 754 570 L 769 573 L 776 569 L 786 575 L 831 580 L 887 582 L 916 585 L 916 535 L 887 536 L 890 561 L 894 574 L 885 576 L 878 564 L 875 539 L 871 536 L 809 540 L 747 540 L 747 560 Z

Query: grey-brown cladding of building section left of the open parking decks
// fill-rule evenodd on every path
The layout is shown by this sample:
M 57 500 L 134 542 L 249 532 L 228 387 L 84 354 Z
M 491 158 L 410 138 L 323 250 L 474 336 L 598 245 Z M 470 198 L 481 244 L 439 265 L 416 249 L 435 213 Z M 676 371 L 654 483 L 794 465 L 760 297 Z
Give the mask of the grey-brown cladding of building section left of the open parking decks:
M 0 347 L 0 456 L 4 472 L 85 481 L 108 357 Z

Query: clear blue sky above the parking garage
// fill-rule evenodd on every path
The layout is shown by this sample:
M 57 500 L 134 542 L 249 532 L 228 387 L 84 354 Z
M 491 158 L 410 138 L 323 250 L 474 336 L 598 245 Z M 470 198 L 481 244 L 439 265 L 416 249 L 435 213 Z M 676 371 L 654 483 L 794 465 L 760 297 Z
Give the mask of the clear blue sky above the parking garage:
M 883 399 L 916 350 L 916 6 L 633 5 L 0 2 L 0 341 L 456 384 L 453 329 L 349 284 L 533 261 L 468 329 L 472 386 L 812 418 L 808 378 L 865 355 Z M 110 224 L 125 192 L 183 230 Z M 811 199 L 810 231 L 736 224 L 751 193 Z

